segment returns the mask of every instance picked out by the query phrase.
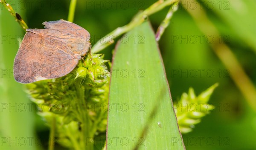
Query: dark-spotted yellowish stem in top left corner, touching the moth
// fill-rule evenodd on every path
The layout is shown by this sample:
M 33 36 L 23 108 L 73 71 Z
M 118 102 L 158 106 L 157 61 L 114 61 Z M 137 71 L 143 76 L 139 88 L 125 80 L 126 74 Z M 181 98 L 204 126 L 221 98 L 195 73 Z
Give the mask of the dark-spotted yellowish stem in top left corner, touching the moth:
M 3 6 L 10 12 L 10 14 L 15 17 L 15 20 L 20 24 L 22 29 L 26 32 L 26 29 L 28 29 L 28 26 L 24 22 L 24 20 L 20 17 L 20 14 L 15 12 L 15 10 L 12 8 L 12 6 L 6 2 L 6 0 L 0 0 L 0 3 L 3 4 Z

